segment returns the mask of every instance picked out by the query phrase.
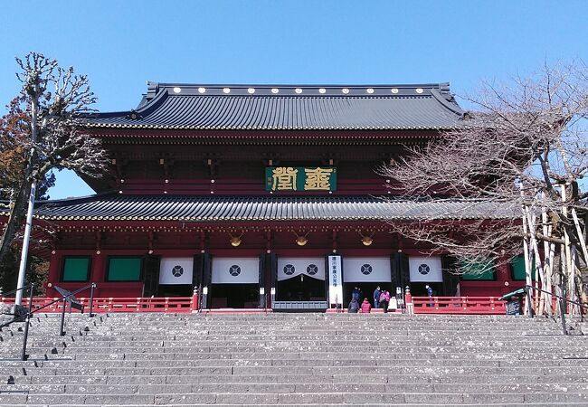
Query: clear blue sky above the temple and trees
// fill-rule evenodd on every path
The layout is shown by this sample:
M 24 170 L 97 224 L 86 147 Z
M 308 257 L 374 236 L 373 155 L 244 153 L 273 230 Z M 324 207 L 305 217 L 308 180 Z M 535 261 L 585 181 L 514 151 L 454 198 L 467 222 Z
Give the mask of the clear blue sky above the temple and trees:
M 134 108 L 146 81 L 381 84 L 450 81 L 458 95 L 545 61 L 588 62 L 588 1 L 6 2 L 0 102 L 14 56 L 88 74 L 101 111 Z M 60 173 L 52 198 L 91 194 Z

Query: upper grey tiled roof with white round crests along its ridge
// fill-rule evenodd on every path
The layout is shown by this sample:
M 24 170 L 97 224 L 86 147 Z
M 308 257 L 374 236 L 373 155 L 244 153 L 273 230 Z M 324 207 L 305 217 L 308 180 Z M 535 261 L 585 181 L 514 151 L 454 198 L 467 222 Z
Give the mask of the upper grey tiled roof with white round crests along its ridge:
M 99 113 L 91 128 L 446 129 L 462 110 L 449 83 L 377 86 L 148 83 L 136 110 Z

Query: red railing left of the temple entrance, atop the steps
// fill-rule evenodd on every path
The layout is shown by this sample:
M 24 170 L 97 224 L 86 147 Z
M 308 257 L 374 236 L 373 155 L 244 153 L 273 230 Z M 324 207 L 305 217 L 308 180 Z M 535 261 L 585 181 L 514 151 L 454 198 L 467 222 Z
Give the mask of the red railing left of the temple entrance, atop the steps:
M 33 309 L 43 307 L 56 298 L 33 298 Z M 84 311 L 90 311 L 90 298 L 78 298 Z M 0 302 L 14 304 L 14 298 L 1 297 Z M 23 298 L 23 305 L 28 307 L 28 299 Z M 92 312 L 169 312 L 189 313 L 198 309 L 198 297 L 171 298 L 94 298 Z M 62 312 L 62 301 L 44 308 L 43 312 Z

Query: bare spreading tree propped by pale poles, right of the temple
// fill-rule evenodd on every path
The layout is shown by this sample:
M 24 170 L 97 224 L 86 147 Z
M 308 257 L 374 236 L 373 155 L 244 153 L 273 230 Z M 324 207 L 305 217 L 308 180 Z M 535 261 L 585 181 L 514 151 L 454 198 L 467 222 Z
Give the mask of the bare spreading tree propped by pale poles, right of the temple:
M 428 241 L 468 264 L 472 259 L 526 257 L 527 284 L 577 298 L 586 264 L 588 70 L 583 64 L 545 66 L 508 84 L 483 83 L 465 98 L 475 111 L 460 126 L 382 172 L 408 199 L 455 201 L 461 211 L 405 223 L 405 236 Z M 486 216 L 470 219 L 484 204 Z M 517 216 L 498 213 L 517 212 Z M 483 218 L 483 219 L 482 219 Z M 493 262 L 488 261 L 488 264 Z M 467 271 L 461 268 L 460 272 Z M 552 312 L 551 300 L 536 300 Z

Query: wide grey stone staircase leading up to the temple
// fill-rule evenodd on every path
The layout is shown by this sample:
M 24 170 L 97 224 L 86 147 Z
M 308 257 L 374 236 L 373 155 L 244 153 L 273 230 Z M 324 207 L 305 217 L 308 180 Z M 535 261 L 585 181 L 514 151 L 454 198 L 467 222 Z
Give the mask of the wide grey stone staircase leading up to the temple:
M 59 317 L 33 319 L 25 362 L 0 332 L 1 405 L 588 405 L 588 336 L 549 318 Z

